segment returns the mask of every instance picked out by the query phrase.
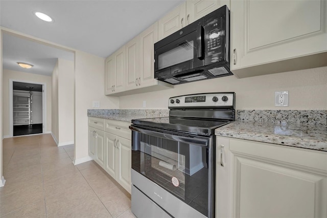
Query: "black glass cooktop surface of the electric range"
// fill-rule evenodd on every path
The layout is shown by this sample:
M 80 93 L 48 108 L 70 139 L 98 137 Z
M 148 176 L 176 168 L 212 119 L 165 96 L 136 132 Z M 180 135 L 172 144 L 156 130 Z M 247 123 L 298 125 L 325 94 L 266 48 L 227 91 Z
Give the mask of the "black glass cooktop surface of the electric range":
M 159 117 L 132 120 L 132 126 L 147 126 L 165 130 L 173 130 L 197 135 L 214 135 L 215 129 L 230 123 L 230 120 L 190 119 L 176 117 Z

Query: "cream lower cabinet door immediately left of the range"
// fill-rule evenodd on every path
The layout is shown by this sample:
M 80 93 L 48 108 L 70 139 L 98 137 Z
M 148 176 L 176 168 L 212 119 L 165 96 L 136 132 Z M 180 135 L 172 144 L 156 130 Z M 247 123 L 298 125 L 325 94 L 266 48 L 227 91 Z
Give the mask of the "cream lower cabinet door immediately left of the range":
M 117 137 L 118 174 L 117 181 L 131 192 L 131 140 Z

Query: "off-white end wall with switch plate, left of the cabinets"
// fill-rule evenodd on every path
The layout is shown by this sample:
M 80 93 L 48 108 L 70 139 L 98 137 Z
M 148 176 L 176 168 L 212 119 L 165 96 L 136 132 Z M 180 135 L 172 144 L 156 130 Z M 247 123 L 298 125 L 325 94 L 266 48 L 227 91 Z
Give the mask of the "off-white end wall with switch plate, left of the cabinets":
M 104 95 L 104 58 L 85 52 L 75 53 L 75 159 L 78 164 L 88 160 L 87 109 L 92 101 L 100 108 L 119 108 L 118 97 Z

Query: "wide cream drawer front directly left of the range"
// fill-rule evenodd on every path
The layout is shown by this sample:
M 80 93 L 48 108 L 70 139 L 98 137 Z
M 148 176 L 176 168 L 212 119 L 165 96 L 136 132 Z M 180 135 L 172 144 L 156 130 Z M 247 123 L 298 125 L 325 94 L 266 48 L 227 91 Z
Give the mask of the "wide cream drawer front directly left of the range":
M 132 134 L 128 128 L 130 124 L 124 121 L 106 120 L 105 132 L 131 140 Z

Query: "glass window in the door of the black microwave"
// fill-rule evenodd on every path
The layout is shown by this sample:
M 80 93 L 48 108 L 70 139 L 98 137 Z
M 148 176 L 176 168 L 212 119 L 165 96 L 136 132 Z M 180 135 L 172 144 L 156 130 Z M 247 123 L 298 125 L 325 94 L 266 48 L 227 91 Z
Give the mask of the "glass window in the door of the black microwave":
M 192 60 L 194 56 L 194 42 L 183 41 L 172 50 L 158 56 L 158 69 L 164 69 L 184 61 Z

